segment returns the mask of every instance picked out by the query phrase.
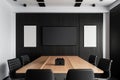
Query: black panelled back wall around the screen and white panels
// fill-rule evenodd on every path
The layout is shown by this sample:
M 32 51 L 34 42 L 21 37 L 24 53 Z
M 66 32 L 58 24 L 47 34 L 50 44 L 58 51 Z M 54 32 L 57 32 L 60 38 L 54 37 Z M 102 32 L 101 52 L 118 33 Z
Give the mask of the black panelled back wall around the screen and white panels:
M 24 25 L 37 25 L 37 47 L 24 47 Z M 97 47 L 83 47 L 83 25 L 97 25 Z M 102 57 L 103 14 L 78 13 L 17 13 L 16 56 L 28 54 L 32 59 L 42 55 L 79 55 L 88 59 L 90 54 Z M 76 45 L 43 45 L 43 27 L 76 27 Z

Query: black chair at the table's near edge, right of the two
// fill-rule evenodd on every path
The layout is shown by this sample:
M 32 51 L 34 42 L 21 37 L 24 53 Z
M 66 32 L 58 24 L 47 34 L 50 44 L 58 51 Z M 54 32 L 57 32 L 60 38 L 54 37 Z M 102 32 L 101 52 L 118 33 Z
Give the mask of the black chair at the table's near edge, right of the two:
M 91 69 L 70 69 L 66 80 L 93 80 L 94 73 Z

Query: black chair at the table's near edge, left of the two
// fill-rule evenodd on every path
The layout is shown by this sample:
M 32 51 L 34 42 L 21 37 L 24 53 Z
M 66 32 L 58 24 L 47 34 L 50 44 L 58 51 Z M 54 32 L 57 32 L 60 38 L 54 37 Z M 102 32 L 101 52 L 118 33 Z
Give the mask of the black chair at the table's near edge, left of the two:
M 25 80 L 54 80 L 54 75 L 50 69 L 29 69 Z

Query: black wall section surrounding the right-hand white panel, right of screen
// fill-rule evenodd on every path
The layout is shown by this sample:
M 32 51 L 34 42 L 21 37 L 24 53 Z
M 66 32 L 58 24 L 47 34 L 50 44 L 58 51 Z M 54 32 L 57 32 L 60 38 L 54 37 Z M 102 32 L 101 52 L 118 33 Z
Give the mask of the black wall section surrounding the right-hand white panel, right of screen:
M 88 59 L 89 55 L 97 55 L 98 59 L 103 55 L 103 17 L 101 14 L 80 15 L 80 56 Z M 97 47 L 84 47 L 84 25 L 97 26 Z

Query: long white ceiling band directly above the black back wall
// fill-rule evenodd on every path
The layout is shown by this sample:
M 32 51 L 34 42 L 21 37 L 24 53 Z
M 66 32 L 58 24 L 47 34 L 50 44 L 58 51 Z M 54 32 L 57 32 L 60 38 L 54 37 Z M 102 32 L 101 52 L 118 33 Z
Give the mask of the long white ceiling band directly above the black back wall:
M 17 13 L 106 13 L 106 7 L 16 7 Z

